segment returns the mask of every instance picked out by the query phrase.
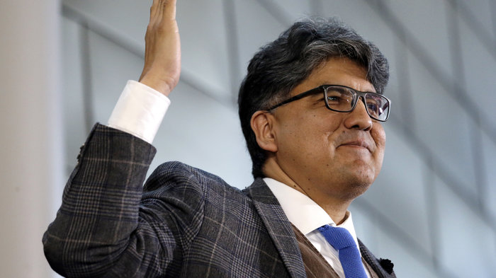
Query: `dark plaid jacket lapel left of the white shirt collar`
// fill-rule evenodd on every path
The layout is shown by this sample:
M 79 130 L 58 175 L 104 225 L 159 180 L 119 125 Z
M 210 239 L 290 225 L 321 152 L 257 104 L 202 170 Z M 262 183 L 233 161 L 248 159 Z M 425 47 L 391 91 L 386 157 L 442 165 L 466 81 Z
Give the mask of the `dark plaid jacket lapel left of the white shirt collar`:
M 254 206 L 291 277 L 306 277 L 301 251 L 291 223 L 264 180 L 257 178 L 243 191 L 253 199 Z

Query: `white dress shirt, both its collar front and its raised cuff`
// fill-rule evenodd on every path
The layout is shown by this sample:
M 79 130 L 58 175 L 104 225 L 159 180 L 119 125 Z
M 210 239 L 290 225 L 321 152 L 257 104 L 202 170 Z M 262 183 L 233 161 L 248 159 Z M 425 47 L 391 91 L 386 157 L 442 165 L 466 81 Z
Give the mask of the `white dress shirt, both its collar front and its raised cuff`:
M 108 126 L 133 134 L 152 144 L 170 103 L 167 96 L 153 88 L 137 81 L 128 81 L 108 120 Z M 264 182 L 278 199 L 289 221 L 308 238 L 339 277 L 345 278 L 337 250 L 332 248 L 317 230 L 325 224 L 337 226 L 331 217 L 310 197 L 298 190 L 271 178 L 264 178 Z M 346 219 L 339 227 L 346 228 L 351 233 L 359 248 L 350 212 L 346 212 Z M 365 270 L 370 278 L 370 273 L 366 268 Z

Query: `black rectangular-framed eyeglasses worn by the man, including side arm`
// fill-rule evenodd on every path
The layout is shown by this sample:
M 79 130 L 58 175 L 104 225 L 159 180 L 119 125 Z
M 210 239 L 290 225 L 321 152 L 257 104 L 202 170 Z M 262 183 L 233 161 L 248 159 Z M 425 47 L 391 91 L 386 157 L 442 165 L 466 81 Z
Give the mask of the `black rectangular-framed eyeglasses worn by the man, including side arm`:
M 372 119 L 380 122 L 385 122 L 388 120 L 391 101 L 384 95 L 379 93 L 356 91 L 354 88 L 341 85 L 322 85 L 317 88 L 312 88 L 309 91 L 305 91 L 293 96 L 292 98 L 288 98 L 287 100 L 284 100 L 283 102 L 278 103 L 267 110 L 274 110 L 281 105 L 291 103 L 292 101 L 299 100 L 300 98 L 305 98 L 305 96 L 308 95 L 315 95 L 316 93 L 324 93 L 325 106 L 329 110 L 336 112 L 353 111 L 359 98 L 362 98 L 367 113 Z

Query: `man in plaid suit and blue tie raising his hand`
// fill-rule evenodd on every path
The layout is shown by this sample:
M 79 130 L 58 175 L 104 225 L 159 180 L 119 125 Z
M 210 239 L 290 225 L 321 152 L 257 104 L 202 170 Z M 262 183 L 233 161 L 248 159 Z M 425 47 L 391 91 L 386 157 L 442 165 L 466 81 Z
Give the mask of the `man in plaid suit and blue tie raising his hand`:
M 356 240 L 347 211 L 381 170 L 388 64 L 341 23 L 295 23 L 250 62 L 239 117 L 252 185 L 240 191 L 172 162 L 142 188 L 164 95 L 179 81 L 175 5 L 154 0 L 140 83 L 128 83 L 110 127 L 97 124 L 81 148 L 43 237 L 53 269 L 67 277 L 395 277 L 390 261 Z

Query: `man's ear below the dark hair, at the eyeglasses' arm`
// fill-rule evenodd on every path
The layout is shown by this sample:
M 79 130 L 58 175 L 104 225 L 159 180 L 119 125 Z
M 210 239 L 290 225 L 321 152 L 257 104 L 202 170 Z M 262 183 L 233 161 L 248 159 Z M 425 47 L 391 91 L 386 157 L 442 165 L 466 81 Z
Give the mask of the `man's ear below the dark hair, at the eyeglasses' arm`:
M 269 112 L 259 110 L 252 115 L 250 125 L 255 137 L 257 137 L 257 144 L 259 144 L 260 148 L 275 153 L 277 144 L 274 136 L 273 121 L 274 117 Z

